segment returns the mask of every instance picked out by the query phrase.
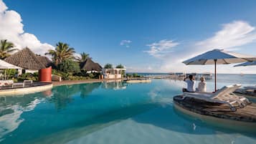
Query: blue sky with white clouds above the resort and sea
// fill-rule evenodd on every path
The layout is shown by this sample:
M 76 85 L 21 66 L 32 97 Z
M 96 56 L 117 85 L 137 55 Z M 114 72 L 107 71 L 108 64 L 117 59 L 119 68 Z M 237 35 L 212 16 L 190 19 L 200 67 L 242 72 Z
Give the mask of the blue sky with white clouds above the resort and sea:
M 185 66 L 181 62 L 216 48 L 256 55 L 256 1 L 4 0 L 2 3 L 8 7 L 3 9 L 0 4 L 3 16 L 8 17 L 4 13 L 14 10 L 21 19 L 15 21 L 17 16 L 13 21 L 2 19 L 0 26 L 3 23 L 5 27 L 0 30 L 12 32 L 17 24 L 22 30 L 12 33 L 29 36 L 16 38 L 14 43 L 34 47 L 34 52 L 41 54 L 57 42 L 66 42 L 77 53 L 87 52 L 100 64 L 121 63 L 133 72 L 212 72 L 212 66 Z M 13 35 L 0 32 L 1 39 L 11 41 Z M 34 41 L 39 41 L 37 44 L 32 42 L 32 35 L 36 37 Z M 219 72 L 255 73 L 256 68 L 225 65 L 219 66 Z

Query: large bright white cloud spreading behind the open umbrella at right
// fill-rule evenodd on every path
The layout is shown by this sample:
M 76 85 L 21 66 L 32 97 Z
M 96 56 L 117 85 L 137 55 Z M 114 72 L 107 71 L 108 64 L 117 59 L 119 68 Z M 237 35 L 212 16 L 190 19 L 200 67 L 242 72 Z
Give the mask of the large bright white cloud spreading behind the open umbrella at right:
M 232 21 L 231 23 L 223 24 L 222 29 L 214 33 L 212 37 L 194 42 L 194 44 L 177 46 L 178 44 L 173 44 L 172 41 L 160 41 L 148 44 L 151 49 L 147 52 L 151 56 L 161 59 L 162 64 L 158 67 L 159 72 L 213 72 L 212 65 L 186 66 L 181 62 L 211 49 L 227 49 L 229 51 L 245 53 L 246 49 L 242 49 L 241 46 L 252 42 L 256 42 L 255 27 L 247 21 Z M 161 47 L 165 43 L 167 43 L 166 47 Z M 218 72 L 226 73 L 252 73 L 255 70 L 252 67 L 233 68 L 232 64 L 218 65 L 218 67 Z

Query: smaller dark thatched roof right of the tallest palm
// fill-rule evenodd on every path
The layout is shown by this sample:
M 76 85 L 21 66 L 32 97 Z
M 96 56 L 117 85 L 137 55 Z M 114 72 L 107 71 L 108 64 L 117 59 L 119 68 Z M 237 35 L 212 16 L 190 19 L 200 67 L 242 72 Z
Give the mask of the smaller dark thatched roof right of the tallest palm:
M 98 71 L 98 72 L 100 72 L 101 69 L 103 69 L 103 67 L 101 67 L 100 64 L 93 62 L 93 60 L 90 58 L 85 59 L 85 62 L 81 62 L 80 68 L 85 69 L 86 71 Z

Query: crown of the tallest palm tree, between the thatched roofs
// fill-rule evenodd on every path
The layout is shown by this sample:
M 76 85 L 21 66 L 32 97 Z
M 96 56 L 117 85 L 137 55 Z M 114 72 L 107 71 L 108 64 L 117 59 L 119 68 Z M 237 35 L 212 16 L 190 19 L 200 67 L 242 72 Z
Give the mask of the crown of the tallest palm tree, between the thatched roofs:
M 52 55 L 52 61 L 57 65 L 65 59 L 75 59 L 75 49 L 69 44 L 58 42 L 55 49 L 49 49 L 46 55 Z

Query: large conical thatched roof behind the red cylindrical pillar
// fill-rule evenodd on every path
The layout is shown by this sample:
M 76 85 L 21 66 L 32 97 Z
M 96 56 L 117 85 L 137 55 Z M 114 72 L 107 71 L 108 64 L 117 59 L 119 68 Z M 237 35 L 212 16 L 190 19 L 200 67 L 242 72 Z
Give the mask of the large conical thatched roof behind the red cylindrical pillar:
M 10 57 L 4 59 L 4 61 L 22 67 L 23 69 L 39 70 L 46 68 L 44 64 L 37 59 L 36 54 L 29 48 L 22 49 L 19 52 L 12 54 Z

